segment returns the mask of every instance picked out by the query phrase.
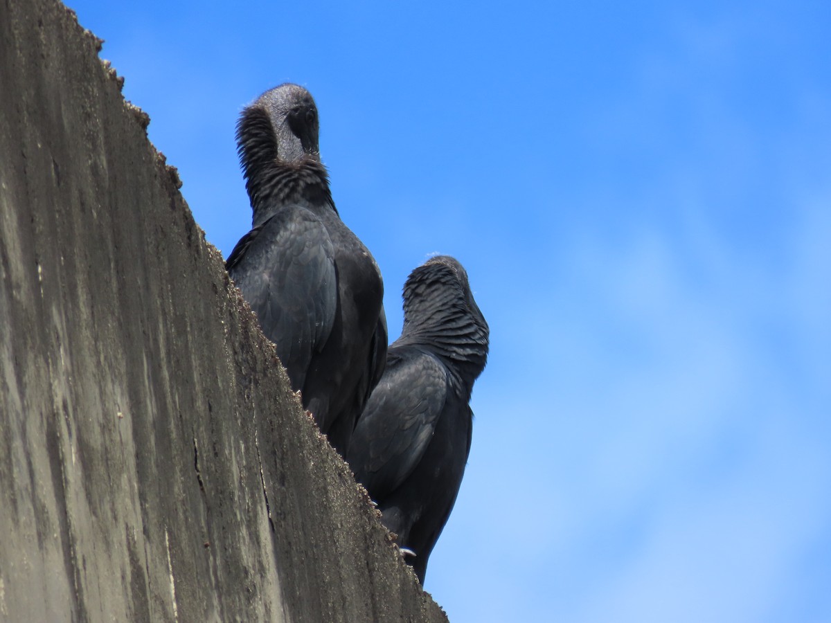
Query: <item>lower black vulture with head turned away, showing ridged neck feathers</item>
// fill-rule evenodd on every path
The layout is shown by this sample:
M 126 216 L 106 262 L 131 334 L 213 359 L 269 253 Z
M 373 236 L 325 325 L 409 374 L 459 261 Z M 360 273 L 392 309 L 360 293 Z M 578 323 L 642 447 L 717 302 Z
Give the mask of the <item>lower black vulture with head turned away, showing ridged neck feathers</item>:
M 488 358 L 488 323 L 454 258 L 431 258 L 404 286 L 404 328 L 358 420 L 347 458 L 424 583 L 427 559 L 470 453 L 470 392 Z

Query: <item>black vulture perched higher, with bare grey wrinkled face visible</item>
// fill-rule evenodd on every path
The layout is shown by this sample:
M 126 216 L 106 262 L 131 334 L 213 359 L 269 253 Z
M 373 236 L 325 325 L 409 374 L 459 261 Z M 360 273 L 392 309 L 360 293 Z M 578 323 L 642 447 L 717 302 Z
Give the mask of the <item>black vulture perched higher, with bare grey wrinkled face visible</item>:
M 225 264 L 294 390 L 341 454 L 386 361 L 375 259 L 332 202 L 317 107 L 293 84 L 266 91 L 237 125 L 253 228 Z

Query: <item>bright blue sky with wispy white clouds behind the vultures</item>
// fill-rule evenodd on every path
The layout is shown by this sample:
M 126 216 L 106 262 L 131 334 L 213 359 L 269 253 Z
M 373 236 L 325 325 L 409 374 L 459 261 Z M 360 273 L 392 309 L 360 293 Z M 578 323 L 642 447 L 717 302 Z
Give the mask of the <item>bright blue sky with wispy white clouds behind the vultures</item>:
M 70 6 L 225 255 L 238 113 L 295 81 L 391 336 L 467 267 L 451 621 L 831 621 L 831 4 Z

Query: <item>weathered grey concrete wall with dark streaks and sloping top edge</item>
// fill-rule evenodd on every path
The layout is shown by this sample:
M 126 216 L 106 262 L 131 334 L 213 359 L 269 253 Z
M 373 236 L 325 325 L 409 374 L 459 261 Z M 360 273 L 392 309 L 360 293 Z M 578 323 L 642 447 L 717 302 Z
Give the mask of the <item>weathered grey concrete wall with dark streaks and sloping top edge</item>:
M 445 621 L 145 126 L 0 0 L 0 620 Z

